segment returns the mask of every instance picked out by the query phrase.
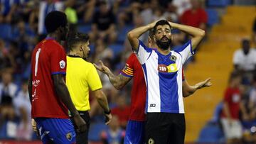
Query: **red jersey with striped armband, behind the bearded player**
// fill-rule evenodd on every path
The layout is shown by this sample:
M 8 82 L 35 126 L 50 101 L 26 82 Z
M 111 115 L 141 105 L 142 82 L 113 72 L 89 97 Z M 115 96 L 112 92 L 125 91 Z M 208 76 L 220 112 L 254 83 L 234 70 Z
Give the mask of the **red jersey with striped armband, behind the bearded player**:
M 142 65 L 139 63 L 139 60 L 134 53 L 129 56 L 121 74 L 125 77 L 133 77 L 129 120 L 144 121 L 146 104 L 146 83 L 144 79 Z

